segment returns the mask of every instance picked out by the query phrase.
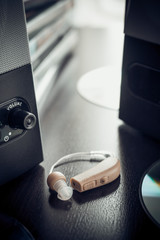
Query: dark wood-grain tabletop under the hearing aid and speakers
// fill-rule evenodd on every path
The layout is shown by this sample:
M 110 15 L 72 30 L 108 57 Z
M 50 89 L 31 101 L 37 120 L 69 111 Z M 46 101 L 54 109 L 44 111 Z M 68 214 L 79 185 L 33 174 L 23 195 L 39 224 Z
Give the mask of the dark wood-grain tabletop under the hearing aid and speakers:
M 39 240 L 157 239 L 160 229 L 141 206 L 139 184 L 144 171 L 160 158 L 160 143 L 123 124 L 118 111 L 81 98 L 78 77 L 78 71 L 64 72 L 57 82 L 41 118 L 44 162 L 0 188 L 0 211 L 18 219 Z M 74 192 L 67 202 L 50 194 L 46 179 L 51 165 L 66 154 L 90 150 L 115 153 L 121 162 L 120 178 Z M 58 169 L 69 181 L 92 164 L 69 163 Z

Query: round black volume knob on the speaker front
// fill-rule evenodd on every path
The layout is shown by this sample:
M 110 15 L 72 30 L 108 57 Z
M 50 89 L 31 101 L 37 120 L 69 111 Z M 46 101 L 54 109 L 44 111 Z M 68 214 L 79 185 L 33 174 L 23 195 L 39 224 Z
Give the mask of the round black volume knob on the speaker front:
M 9 126 L 30 130 L 36 125 L 36 116 L 21 108 L 15 108 L 9 113 Z

